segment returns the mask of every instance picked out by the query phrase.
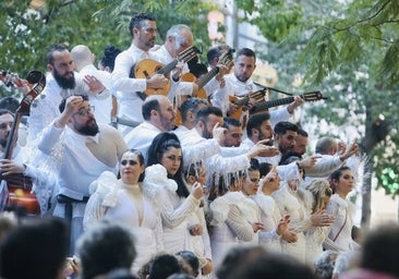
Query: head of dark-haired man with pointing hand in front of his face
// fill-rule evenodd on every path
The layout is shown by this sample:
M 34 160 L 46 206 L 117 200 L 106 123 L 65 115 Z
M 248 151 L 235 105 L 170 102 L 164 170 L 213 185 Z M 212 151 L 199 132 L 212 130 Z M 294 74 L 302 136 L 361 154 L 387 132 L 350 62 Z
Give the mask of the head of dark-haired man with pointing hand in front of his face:
M 196 129 L 204 138 L 213 138 L 213 131 L 216 123 L 223 125 L 223 114 L 218 107 L 205 107 L 200 109 L 195 116 Z

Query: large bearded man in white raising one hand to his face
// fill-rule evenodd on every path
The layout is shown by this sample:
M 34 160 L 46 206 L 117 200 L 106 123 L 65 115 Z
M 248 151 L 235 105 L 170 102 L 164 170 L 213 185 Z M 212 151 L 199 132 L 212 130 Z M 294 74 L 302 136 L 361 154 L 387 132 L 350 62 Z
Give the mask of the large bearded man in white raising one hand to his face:
M 53 215 L 71 221 L 71 246 L 83 232 L 89 185 L 104 171 L 117 173 L 118 158 L 126 150 L 120 133 L 97 124 L 86 96 L 71 96 L 60 104 L 61 114 L 44 131 L 39 149 L 52 159 L 58 174 Z

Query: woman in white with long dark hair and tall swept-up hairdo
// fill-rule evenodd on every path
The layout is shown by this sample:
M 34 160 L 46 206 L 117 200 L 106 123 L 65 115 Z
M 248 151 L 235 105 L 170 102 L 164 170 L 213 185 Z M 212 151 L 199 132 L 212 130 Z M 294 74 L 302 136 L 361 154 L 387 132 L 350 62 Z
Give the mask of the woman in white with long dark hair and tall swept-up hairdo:
M 182 167 L 182 149 L 177 135 L 167 132 L 158 134 L 148 148 L 146 172 L 147 180 L 158 184 L 156 199 L 162 218 L 164 245 L 171 254 L 190 250 L 189 218 L 203 197 L 203 186 L 198 182 L 193 183 L 190 193 Z M 148 170 L 154 174 L 149 175 Z M 197 229 L 196 233 L 201 234 L 202 230 Z

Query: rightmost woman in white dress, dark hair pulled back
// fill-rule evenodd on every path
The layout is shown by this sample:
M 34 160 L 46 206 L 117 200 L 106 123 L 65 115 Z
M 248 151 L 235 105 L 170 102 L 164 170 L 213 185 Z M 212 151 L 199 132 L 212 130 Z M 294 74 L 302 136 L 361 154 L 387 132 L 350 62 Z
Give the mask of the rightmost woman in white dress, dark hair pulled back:
M 325 248 L 334 251 L 356 251 L 360 246 L 352 239 L 355 206 L 348 199 L 348 194 L 354 187 L 353 172 L 349 167 L 341 167 L 330 175 L 334 195 L 327 206 L 327 214 L 335 217 L 330 226 Z

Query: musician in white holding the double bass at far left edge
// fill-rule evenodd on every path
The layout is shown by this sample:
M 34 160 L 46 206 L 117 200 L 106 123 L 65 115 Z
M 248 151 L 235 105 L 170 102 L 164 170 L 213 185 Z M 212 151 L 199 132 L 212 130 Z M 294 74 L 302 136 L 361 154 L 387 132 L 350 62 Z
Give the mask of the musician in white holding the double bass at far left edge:
M 17 143 L 19 131 L 12 133 L 13 123 L 14 114 L 0 109 L 0 210 L 7 205 L 17 204 L 24 206 L 27 214 L 44 215 L 51 195 L 51 175 L 28 163 L 27 148 Z M 10 158 L 4 158 L 4 155 Z M 31 193 L 33 190 L 39 198 Z

